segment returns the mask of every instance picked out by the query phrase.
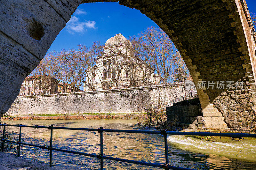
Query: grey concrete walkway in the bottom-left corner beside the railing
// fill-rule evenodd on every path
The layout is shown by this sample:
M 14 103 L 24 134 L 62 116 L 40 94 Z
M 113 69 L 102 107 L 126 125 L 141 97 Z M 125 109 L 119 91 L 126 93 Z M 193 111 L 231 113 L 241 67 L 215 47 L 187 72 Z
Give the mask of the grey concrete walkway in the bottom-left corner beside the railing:
M 14 155 L 0 152 L 0 170 L 57 170 L 50 166 L 32 162 Z

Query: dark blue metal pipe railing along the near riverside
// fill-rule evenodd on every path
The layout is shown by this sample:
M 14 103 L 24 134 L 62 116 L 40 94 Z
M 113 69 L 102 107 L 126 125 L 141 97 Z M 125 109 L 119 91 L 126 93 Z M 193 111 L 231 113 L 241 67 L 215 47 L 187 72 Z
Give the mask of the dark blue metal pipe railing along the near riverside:
M 2 152 L 4 152 L 4 142 L 11 142 L 18 144 L 18 157 L 20 157 L 20 145 L 27 145 L 27 146 L 33 146 L 38 147 L 42 149 L 47 149 L 50 151 L 50 165 L 52 166 L 52 151 L 59 151 L 59 152 L 66 152 L 66 153 L 73 153 L 77 155 L 84 155 L 89 157 L 94 157 L 100 159 L 100 170 L 103 170 L 103 159 L 108 160 L 114 160 L 114 161 L 120 161 L 120 162 L 126 162 L 126 163 L 132 163 L 132 164 L 138 164 L 138 165 L 145 165 L 145 166 L 152 166 L 152 167 L 159 167 L 164 169 L 173 169 L 173 170 L 195 170 L 191 168 L 184 168 L 184 167 L 177 167 L 177 166 L 171 166 L 169 164 L 169 157 L 168 157 L 168 142 L 167 142 L 167 135 L 194 135 L 194 136 L 218 136 L 218 137 L 234 137 L 234 138 L 241 138 L 241 137 L 256 137 L 256 134 L 250 134 L 250 133 L 212 133 L 212 132 L 177 132 L 177 131 L 153 131 L 153 130 L 121 130 L 121 129 L 90 129 L 90 128 L 66 128 L 66 127 L 53 127 L 53 126 L 32 126 L 32 125 L 11 125 L 11 124 L 0 124 L 0 126 L 3 126 L 3 139 L 2 141 Z M 20 128 L 19 132 L 19 141 L 12 141 L 12 140 L 6 140 L 5 137 L 5 127 L 6 126 L 13 126 Z M 27 127 L 27 128 L 43 128 L 43 129 L 50 129 L 50 146 L 40 146 L 35 144 L 28 144 L 21 142 L 21 128 Z M 70 151 L 65 149 L 58 149 L 52 147 L 52 131 L 53 129 L 65 129 L 65 130 L 83 130 L 83 131 L 97 131 L 100 133 L 100 154 L 91 154 L 91 153 L 84 153 L 84 152 L 76 152 L 76 151 Z M 145 161 L 139 161 L 139 160 L 130 160 L 130 159 L 120 159 L 115 157 L 108 157 L 103 156 L 103 132 L 120 132 L 120 133 L 140 133 L 140 134 L 160 134 L 164 136 L 164 148 L 165 148 L 165 163 L 164 164 L 157 164 L 152 162 L 145 162 Z

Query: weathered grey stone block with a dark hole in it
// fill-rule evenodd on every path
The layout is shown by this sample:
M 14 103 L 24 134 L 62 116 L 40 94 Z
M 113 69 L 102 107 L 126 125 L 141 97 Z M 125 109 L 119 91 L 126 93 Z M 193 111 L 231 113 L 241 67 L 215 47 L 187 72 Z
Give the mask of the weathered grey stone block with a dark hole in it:
M 0 11 L 0 30 L 40 59 L 66 25 L 46 1 L 3 1 Z

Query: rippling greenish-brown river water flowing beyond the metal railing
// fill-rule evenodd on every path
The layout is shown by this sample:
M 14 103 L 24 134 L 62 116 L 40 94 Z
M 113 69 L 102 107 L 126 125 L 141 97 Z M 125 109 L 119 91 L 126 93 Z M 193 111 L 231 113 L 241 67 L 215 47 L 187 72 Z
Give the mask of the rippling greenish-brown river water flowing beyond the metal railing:
M 80 128 L 138 129 L 136 120 L 26 120 L 6 121 L 6 123 Z M 18 128 L 9 128 L 8 130 L 14 130 L 13 137 L 18 137 Z M 49 146 L 49 138 L 49 129 L 22 128 L 22 142 Z M 53 147 L 99 154 L 100 134 L 90 131 L 53 129 Z M 256 140 L 233 141 L 220 139 L 217 142 L 210 142 L 192 137 L 172 135 L 168 136 L 168 149 L 169 162 L 172 166 L 234 170 L 238 163 L 242 163 L 237 169 L 256 169 Z M 236 161 L 236 154 L 239 151 L 241 152 L 237 155 Z M 46 150 L 23 146 L 22 154 L 26 159 L 49 165 L 49 153 Z M 40 156 L 38 156 L 39 154 Z M 164 164 L 164 137 L 154 134 L 103 132 L 103 154 L 110 157 Z M 117 161 L 103 161 L 104 169 L 109 170 L 159 169 Z M 52 166 L 58 169 L 96 170 L 100 169 L 100 161 L 96 158 L 52 151 Z

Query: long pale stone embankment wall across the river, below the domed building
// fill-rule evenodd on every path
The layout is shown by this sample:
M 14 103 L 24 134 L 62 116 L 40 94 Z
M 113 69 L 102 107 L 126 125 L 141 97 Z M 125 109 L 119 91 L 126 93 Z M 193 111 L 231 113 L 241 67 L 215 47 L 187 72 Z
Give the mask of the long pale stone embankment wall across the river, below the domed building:
M 177 86 L 176 90 L 181 89 Z M 70 114 L 70 113 L 132 113 L 138 102 L 148 102 L 161 97 L 168 104 L 174 99 L 170 88 L 164 85 L 125 89 L 97 90 L 48 94 L 44 96 L 18 96 L 7 113 L 12 115 Z

